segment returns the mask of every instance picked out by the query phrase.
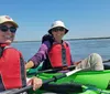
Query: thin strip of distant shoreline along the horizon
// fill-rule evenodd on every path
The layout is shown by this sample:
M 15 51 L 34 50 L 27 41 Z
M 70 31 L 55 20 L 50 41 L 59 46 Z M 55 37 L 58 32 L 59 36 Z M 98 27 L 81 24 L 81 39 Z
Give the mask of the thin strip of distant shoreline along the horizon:
M 100 39 L 110 39 L 110 36 L 105 36 L 105 38 L 80 38 L 80 39 L 64 39 L 66 41 L 74 41 L 74 40 L 100 40 Z M 41 42 L 40 40 L 33 40 L 33 41 L 14 41 L 14 43 L 18 42 Z

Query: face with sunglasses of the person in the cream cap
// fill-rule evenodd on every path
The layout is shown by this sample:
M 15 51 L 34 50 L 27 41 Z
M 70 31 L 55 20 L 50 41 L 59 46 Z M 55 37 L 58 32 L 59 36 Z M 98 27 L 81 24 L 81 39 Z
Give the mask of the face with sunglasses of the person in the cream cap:
M 10 23 L 6 22 L 0 24 L 0 43 L 10 44 L 14 40 L 16 28 Z

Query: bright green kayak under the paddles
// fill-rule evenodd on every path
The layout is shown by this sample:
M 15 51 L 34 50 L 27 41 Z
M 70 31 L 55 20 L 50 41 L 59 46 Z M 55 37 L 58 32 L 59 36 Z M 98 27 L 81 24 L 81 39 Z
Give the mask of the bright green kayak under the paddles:
M 38 73 L 36 76 L 43 81 L 63 73 Z M 33 76 L 33 75 L 31 75 Z M 43 84 L 43 86 L 30 93 L 59 93 L 59 94 L 110 94 L 110 70 L 77 72 L 70 76 L 63 77 L 56 82 Z

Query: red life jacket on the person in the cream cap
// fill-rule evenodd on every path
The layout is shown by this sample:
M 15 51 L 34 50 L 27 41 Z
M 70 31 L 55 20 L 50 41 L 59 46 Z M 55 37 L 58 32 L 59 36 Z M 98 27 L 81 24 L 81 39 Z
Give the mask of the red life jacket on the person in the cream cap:
M 0 92 L 26 86 L 24 61 L 13 48 L 6 48 L 0 58 Z

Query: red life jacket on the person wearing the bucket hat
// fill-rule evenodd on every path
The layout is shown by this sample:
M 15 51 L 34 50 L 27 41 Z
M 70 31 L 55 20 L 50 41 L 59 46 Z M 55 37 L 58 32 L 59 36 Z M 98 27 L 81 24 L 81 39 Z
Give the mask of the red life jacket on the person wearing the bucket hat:
M 63 54 L 63 50 L 65 49 L 65 54 Z M 63 55 L 66 58 L 66 63 L 63 63 Z M 53 67 L 63 67 L 63 66 L 69 66 L 72 64 L 70 62 L 70 49 L 66 42 L 63 42 L 62 44 L 53 43 L 51 51 L 48 52 L 48 59 L 51 61 L 51 64 Z

